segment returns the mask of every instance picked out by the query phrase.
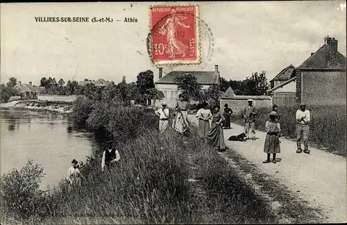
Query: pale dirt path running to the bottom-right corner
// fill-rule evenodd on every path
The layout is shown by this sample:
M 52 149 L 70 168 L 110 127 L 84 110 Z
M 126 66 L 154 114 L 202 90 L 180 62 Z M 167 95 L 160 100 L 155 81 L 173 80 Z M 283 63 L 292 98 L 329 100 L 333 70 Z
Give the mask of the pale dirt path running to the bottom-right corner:
M 194 115 L 189 120 L 196 124 Z M 257 140 L 231 142 L 230 135 L 244 131 L 242 126 L 232 124 L 232 129 L 223 130 L 227 147 L 236 151 L 269 176 L 276 178 L 292 192 L 307 201 L 312 208 L 321 210 L 323 222 L 347 222 L 346 158 L 310 147 L 311 154 L 296 153 L 296 143 L 280 138 L 281 153 L 279 163 L 263 164 L 266 133 L 256 131 Z

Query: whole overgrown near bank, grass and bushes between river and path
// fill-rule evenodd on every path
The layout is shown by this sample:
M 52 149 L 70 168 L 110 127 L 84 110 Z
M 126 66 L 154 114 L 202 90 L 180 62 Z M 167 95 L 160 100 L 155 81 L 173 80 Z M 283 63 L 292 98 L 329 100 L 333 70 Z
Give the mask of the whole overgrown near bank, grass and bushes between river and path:
M 269 204 L 196 131 L 159 136 L 153 110 L 79 99 L 73 117 L 115 140 L 121 160 L 101 171 L 101 152 L 83 168 L 81 188 L 42 193 L 42 168 L 1 178 L 2 221 L 15 224 L 269 223 Z M 192 182 L 192 179 L 196 180 Z M 15 219 L 15 220 L 14 220 Z

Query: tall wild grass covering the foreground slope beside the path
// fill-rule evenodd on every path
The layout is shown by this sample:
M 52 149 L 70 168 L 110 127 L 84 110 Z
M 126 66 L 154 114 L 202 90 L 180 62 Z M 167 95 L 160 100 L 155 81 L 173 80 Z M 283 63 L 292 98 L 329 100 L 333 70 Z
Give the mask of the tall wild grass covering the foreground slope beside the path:
M 69 193 L 67 184 L 62 182 L 46 195 L 34 195 L 40 202 L 36 210 L 41 213 L 35 214 L 32 221 L 36 224 L 109 224 L 115 220 L 196 224 L 206 223 L 202 218 L 209 213 L 208 222 L 212 223 L 275 221 L 267 203 L 215 151 L 201 143 L 194 132 L 184 138 L 173 131 L 159 136 L 158 131 L 147 129 L 119 145 L 121 160 L 110 171 L 102 172 L 100 158 L 92 158 L 82 170 L 87 180 L 80 188 Z M 188 181 L 191 176 L 188 155 L 194 158 L 208 193 L 205 202 L 196 198 L 197 190 Z M 29 178 L 30 174 L 26 176 Z M 1 185 L 1 190 L 10 188 Z M 4 205 L 12 203 L 16 204 L 15 197 L 5 199 Z M 198 210 L 201 204 L 206 206 L 203 211 Z M 24 215 L 34 212 L 30 208 L 16 210 L 24 210 Z M 216 212 L 223 216 L 217 217 Z M 27 217 L 17 219 L 28 222 Z

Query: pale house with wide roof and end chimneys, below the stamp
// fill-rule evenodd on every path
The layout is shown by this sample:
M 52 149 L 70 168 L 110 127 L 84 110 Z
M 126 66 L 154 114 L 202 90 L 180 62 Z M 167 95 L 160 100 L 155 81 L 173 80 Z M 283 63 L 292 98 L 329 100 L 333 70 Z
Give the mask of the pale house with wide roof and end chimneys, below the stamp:
M 160 105 L 162 101 L 165 101 L 170 107 L 176 104 L 178 94 L 180 93 L 176 78 L 184 74 L 195 76 L 198 83 L 203 86 L 203 89 L 207 89 L 214 84 L 219 85 L 221 80 L 218 65 L 214 66 L 214 71 L 171 71 L 165 76 L 162 76 L 162 68 L 159 68 L 159 79 L 155 82 L 155 88 L 164 93 L 164 99 L 155 101 L 155 105 Z

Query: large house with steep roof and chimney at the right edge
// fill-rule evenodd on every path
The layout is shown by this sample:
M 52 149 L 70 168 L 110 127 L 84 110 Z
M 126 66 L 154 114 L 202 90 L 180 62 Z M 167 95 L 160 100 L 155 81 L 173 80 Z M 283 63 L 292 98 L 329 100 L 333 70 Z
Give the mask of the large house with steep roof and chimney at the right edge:
M 335 38 L 325 37 L 325 44 L 291 78 L 296 79 L 296 103 L 346 104 L 346 56 L 337 51 Z

